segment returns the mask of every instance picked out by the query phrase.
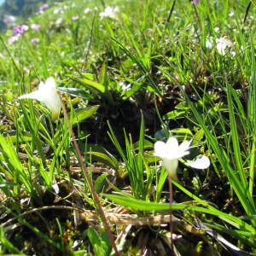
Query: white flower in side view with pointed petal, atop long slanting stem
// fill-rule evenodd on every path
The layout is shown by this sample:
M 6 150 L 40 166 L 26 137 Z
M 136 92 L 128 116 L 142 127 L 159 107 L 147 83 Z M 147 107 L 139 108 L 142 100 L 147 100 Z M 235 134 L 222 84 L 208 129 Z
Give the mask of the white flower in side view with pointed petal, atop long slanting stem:
M 33 99 L 43 102 L 52 112 L 52 119 L 57 119 L 61 110 L 61 98 L 56 91 L 55 79 L 46 79 L 45 83 L 40 82 L 38 90 L 19 96 L 19 99 Z

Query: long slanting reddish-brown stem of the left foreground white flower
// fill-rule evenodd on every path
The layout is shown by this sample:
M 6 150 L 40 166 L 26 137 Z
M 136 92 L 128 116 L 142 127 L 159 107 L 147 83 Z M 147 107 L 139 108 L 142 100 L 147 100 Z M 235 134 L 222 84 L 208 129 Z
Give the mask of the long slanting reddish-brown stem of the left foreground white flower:
M 116 247 L 115 241 L 114 241 L 113 234 L 112 234 L 112 232 L 111 232 L 111 230 L 110 230 L 110 227 L 109 227 L 109 225 L 108 225 L 107 218 L 106 218 L 106 216 L 105 216 L 105 214 L 104 214 L 104 212 L 103 212 L 103 210 L 102 210 L 101 202 L 100 202 L 100 200 L 99 200 L 98 195 L 96 194 L 96 190 L 94 189 L 92 180 L 90 179 L 90 175 L 89 175 L 89 173 L 88 173 L 88 170 L 87 170 L 87 168 L 86 168 L 85 165 L 84 165 L 84 160 L 83 160 L 81 151 L 80 151 L 80 149 L 79 149 L 79 144 L 78 144 L 77 141 L 76 141 L 76 137 L 75 137 L 75 134 L 74 134 L 74 132 L 73 132 L 73 128 L 72 128 L 72 125 L 71 125 L 71 123 L 70 123 L 70 120 L 69 120 L 69 117 L 68 117 L 68 114 L 67 114 L 67 109 L 66 109 L 64 103 L 62 102 L 62 100 L 61 100 L 61 108 L 62 108 L 62 110 L 63 110 L 64 118 L 65 118 L 66 121 L 67 121 L 67 126 L 68 126 L 68 129 L 69 129 L 70 134 L 71 134 L 71 137 L 72 137 L 73 146 L 74 146 L 74 148 L 75 148 L 75 150 L 76 150 L 76 152 L 77 152 L 77 154 L 78 154 L 79 164 L 80 164 L 80 166 L 81 166 L 81 168 L 82 168 L 82 170 L 83 170 L 83 172 L 84 172 L 84 176 L 86 177 L 87 182 L 88 182 L 88 184 L 89 184 L 89 186 L 90 186 L 91 193 L 92 193 L 93 198 L 94 198 L 94 200 L 95 200 L 95 202 L 96 202 L 97 210 L 98 210 L 99 214 L 100 214 L 101 217 L 102 217 L 102 222 L 103 222 L 103 224 L 104 224 L 104 226 L 105 226 L 105 229 L 107 230 L 108 237 L 109 237 L 109 239 L 110 239 L 110 241 L 111 241 L 111 245 L 112 245 L 112 247 L 113 247 L 114 253 L 115 253 L 116 256 L 120 256 L 120 253 L 119 253 L 119 251 L 118 251 L 118 249 L 117 249 L 117 247 Z

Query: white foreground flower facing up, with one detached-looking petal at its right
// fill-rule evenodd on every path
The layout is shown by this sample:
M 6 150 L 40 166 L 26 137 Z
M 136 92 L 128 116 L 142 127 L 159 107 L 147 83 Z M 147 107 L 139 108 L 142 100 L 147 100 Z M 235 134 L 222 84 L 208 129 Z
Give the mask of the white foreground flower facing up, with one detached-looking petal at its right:
M 167 172 L 175 180 L 177 180 L 178 160 L 189 154 L 190 143 L 191 141 L 184 141 L 178 145 L 176 137 L 170 137 L 166 143 L 161 141 L 154 143 L 154 155 L 163 160 Z M 204 155 L 201 158 L 189 160 L 186 164 L 195 169 L 207 169 L 210 166 L 210 160 Z

